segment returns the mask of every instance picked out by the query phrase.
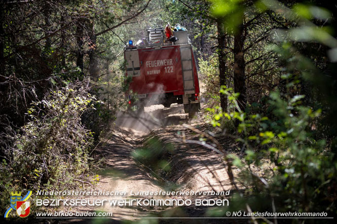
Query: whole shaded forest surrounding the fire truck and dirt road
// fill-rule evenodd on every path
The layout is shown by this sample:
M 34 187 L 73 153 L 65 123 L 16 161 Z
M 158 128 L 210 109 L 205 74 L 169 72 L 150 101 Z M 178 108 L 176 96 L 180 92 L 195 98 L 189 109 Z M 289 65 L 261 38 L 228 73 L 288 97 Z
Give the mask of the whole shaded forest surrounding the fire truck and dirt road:
M 335 214 L 333 1 L 2 1 L 0 9 L 2 211 L 12 191 L 94 183 L 91 153 L 126 107 L 125 42 L 170 22 L 189 31 L 210 99 L 205 121 L 245 152 L 224 158 L 250 186 L 245 199 L 234 196 L 236 208 L 249 199 Z

